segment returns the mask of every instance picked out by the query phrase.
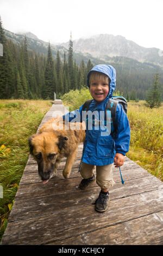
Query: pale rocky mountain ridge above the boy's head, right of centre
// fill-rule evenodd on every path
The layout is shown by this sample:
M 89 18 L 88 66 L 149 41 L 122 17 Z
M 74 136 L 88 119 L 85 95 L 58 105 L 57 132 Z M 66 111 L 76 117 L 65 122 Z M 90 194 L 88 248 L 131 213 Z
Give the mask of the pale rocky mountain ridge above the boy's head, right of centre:
M 67 43 L 61 46 L 68 47 Z M 134 41 L 127 40 L 122 35 L 99 34 L 86 39 L 73 41 L 75 52 L 84 55 L 90 53 L 95 58 L 106 61 L 108 57 L 124 56 L 136 59 L 139 62 L 149 62 L 163 66 L 163 51 L 158 48 L 146 48 Z

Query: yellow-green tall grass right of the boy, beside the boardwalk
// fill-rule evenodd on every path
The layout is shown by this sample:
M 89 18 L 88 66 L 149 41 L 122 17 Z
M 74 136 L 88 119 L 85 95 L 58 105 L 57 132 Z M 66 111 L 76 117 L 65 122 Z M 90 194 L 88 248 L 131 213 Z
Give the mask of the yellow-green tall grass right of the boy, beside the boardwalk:
M 127 156 L 163 181 L 163 106 L 149 109 L 145 102 L 129 103 L 131 128 Z

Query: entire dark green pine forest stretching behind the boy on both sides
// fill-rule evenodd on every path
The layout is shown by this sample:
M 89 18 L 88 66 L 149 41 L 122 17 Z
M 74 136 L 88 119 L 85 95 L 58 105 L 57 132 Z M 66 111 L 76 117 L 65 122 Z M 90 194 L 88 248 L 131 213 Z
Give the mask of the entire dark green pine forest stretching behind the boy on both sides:
M 3 57 L 0 56 L 0 99 L 54 99 L 54 92 L 59 99 L 70 90 L 86 87 L 87 73 L 94 65 L 102 64 L 97 59 L 81 59 L 80 55 L 74 53 L 72 36 L 64 56 L 58 50 L 54 57 L 50 43 L 47 54 L 29 50 L 26 35 L 21 44 L 5 37 L 1 19 L 0 43 L 3 45 Z M 146 99 L 159 67 L 124 57 L 112 57 L 104 64 L 116 68 L 117 91 L 127 100 Z M 161 68 L 158 71 L 162 84 Z

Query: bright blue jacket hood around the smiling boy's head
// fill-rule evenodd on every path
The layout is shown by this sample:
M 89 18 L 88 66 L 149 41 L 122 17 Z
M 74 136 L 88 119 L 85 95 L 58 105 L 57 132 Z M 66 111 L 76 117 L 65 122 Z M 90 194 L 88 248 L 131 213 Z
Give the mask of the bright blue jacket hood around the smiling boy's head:
M 90 87 L 89 76 L 90 76 L 90 73 L 92 71 L 101 72 L 101 73 L 109 76 L 109 78 L 110 78 L 110 90 L 109 90 L 109 94 L 108 94 L 107 97 L 111 98 L 112 93 L 114 92 L 115 87 L 116 87 L 116 70 L 115 70 L 115 68 L 110 66 L 110 65 L 105 65 L 105 64 L 99 64 L 99 65 L 93 67 L 90 70 L 90 72 L 87 74 L 87 86 L 89 86 L 89 87 Z

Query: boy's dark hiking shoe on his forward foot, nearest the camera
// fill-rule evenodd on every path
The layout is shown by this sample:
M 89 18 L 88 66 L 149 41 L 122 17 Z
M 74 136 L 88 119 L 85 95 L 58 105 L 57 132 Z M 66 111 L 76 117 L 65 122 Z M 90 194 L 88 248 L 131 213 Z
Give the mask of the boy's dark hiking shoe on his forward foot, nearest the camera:
M 98 212 L 105 212 L 110 201 L 109 192 L 107 195 L 104 195 L 102 192 L 99 193 L 98 198 L 96 199 L 96 207 L 95 210 Z

